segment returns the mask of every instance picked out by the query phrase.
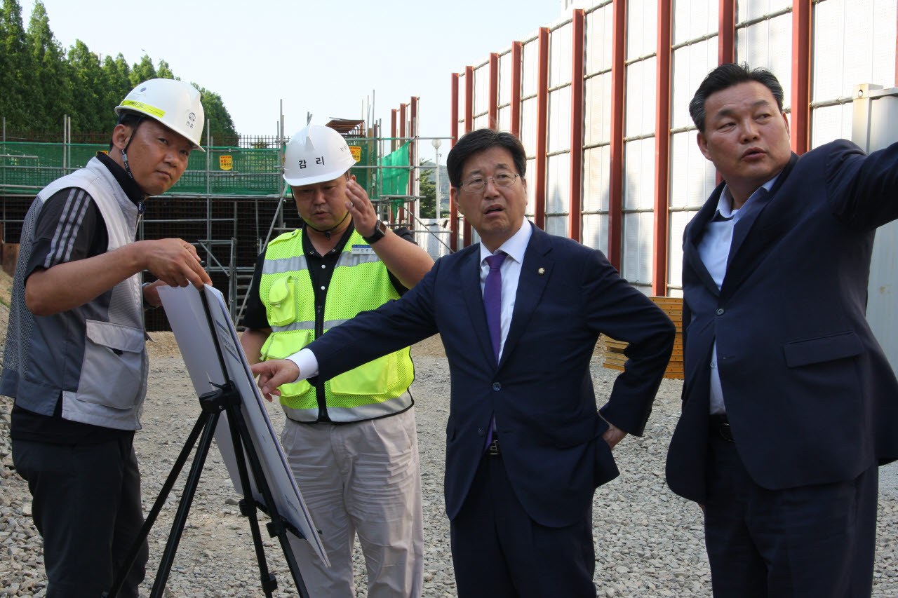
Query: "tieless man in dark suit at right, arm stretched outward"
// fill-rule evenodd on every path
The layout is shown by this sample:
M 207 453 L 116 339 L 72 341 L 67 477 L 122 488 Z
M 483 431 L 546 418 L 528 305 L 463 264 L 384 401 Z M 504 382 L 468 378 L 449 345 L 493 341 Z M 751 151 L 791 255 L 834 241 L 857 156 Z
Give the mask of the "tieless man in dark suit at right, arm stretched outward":
M 898 383 L 865 319 L 874 233 L 898 217 L 898 145 L 799 157 L 782 103 L 769 71 L 722 65 L 690 104 L 724 182 L 683 235 L 667 481 L 704 506 L 715 596 L 858 598 L 876 468 L 898 457 Z

